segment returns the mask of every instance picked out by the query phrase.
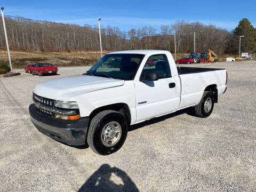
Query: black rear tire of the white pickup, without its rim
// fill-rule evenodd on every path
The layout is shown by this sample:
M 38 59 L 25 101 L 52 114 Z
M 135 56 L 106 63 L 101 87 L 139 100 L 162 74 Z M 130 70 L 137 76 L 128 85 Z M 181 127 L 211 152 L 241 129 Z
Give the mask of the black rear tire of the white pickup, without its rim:
M 210 110 L 205 109 L 205 102 L 206 101 L 211 102 Z M 196 115 L 198 117 L 202 117 L 202 118 L 209 117 L 212 113 L 213 107 L 214 107 L 213 94 L 209 91 L 204 91 L 204 94 L 203 94 L 203 97 L 202 97 L 201 101 L 199 102 L 198 105 L 195 106 Z

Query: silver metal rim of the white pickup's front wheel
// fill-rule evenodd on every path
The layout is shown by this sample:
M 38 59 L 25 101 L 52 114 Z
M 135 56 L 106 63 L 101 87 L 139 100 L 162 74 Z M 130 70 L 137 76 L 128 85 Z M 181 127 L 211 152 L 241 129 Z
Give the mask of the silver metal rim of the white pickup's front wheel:
M 118 122 L 107 123 L 101 131 L 101 142 L 106 147 L 112 147 L 120 140 L 122 134 L 121 125 Z

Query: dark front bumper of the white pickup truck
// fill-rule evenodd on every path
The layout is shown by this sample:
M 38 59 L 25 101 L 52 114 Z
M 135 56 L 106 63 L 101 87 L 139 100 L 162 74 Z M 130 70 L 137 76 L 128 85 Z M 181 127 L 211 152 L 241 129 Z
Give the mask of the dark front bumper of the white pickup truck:
M 70 145 L 85 145 L 89 117 L 74 121 L 56 119 L 43 114 L 35 104 L 29 106 L 29 114 L 37 130 L 50 138 Z

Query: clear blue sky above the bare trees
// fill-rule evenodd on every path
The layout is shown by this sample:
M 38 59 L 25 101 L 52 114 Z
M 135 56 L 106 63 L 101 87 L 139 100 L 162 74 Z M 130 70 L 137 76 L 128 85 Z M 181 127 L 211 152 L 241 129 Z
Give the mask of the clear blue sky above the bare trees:
M 256 0 L 249 1 L 11 1 L 3 0 L 4 14 L 64 23 L 119 27 L 169 25 L 176 20 L 199 21 L 227 30 L 247 18 L 256 27 Z

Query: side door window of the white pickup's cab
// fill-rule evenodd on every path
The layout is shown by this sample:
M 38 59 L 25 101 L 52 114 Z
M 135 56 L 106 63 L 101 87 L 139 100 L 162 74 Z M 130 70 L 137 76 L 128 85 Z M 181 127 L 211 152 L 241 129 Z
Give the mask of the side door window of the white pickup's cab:
M 142 70 L 141 75 L 144 76 L 146 71 L 155 71 L 158 74 L 159 79 L 172 76 L 169 62 L 165 54 L 150 56 Z

